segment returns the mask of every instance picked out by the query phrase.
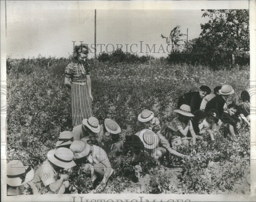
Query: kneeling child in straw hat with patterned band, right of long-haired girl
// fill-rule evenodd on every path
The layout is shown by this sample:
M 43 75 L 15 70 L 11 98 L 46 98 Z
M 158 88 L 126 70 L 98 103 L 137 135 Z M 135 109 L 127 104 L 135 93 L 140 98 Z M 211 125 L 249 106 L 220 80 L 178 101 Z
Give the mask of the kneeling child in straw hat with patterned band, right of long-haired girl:
M 195 144 L 196 134 L 190 121 L 190 118 L 194 117 L 194 115 L 190 113 L 190 107 L 188 105 L 182 105 L 179 109 L 174 110 L 174 112 L 178 113 L 178 116 L 173 119 L 173 122 L 178 127 L 177 135 L 183 139 L 182 143 L 187 145 L 189 143 L 188 140 L 191 139 L 192 144 Z

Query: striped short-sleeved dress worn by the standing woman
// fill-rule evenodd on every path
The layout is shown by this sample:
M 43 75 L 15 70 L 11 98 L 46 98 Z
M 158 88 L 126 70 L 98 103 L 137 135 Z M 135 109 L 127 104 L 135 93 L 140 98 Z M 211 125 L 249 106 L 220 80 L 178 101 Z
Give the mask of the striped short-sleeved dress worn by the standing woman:
M 84 69 L 84 67 L 86 69 Z M 86 75 L 90 75 L 90 66 L 88 62 L 78 64 L 76 61 L 69 63 L 65 69 L 65 77 L 70 78 L 72 82 L 86 83 Z M 82 120 L 90 118 L 92 115 L 92 103 L 89 96 L 87 85 L 71 85 L 71 108 L 72 125 L 82 124 Z

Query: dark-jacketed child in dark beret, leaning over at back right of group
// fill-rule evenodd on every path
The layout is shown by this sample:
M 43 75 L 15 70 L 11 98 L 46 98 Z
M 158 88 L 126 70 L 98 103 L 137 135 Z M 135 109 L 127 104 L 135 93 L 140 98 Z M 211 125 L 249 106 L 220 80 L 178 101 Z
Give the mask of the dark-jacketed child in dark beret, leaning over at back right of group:
M 177 109 L 182 105 L 188 105 L 190 106 L 191 113 L 193 114 L 194 111 L 200 109 L 202 99 L 210 93 L 211 89 L 206 85 L 200 86 L 199 91 L 185 93 L 183 96 L 179 97 Z

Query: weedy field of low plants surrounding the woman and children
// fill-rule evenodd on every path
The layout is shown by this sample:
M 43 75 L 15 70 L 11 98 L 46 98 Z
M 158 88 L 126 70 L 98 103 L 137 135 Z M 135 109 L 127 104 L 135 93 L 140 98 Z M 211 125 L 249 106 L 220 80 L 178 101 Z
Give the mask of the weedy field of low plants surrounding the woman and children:
M 55 147 L 59 133 L 72 129 L 71 93 L 64 85 L 64 70 L 70 61 L 41 56 L 19 60 L 7 58 L 8 159 L 20 158 L 24 165 L 37 167 Z M 235 87 L 247 84 L 250 78 L 248 66 L 213 71 L 200 65 L 170 64 L 164 58 L 131 63 L 90 59 L 89 64 L 93 115 L 100 122 L 105 118 L 116 120 L 122 129 L 121 136 L 138 130 L 134 123 L 138 113 L 145 108 L 153 110 L 164 123 L 176 116 L 173 110 L 183 93 L 197 91 L 200 85 L 208 85 L 211 89 L 223 84 Z M 128 93 L 122 100 L 127 109 L 120 111 L 116 95 L 108 90 L 122 85 L 135 86 L 139 96 Z M 138 101 L 137 106 L 130 110 L 134 99 Z M 120 113 L 114 113 L 116 111 Z M 231 145 L 227 145 L 223 131 L 216 136 L 215 142 L 206 139 L 191 147 L 175 148 L 190 155 L 190 160 L 167 156 L 164 165 L 151 164 L 151 168 L 143 168 L 137 183 L 116 170 L 103 192 L 248 194 L 250 186 L 244 179 L 250 172 L 250 130 L 240 131 Z M 93 190 L 90 177 L 79 167 L 73 168 L 70 185 L 71 193 Z

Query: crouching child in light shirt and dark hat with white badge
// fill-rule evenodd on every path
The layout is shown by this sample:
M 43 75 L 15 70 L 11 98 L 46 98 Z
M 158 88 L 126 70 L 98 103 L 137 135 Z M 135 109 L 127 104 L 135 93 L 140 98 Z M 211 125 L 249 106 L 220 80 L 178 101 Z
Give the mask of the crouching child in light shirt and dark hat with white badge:
M 202 135 L 205 132 L 209 132 L 211 140 L 215 140 L 214 131 L 218 130 L 215 122 L 219 120 L 218 116 L 219 113 L 216 109 L 210 109 L 207 112 L 207 117 L 203 120 L 202 123 L 198 125 L 198 128 L 200 130 L 199 134 Z

